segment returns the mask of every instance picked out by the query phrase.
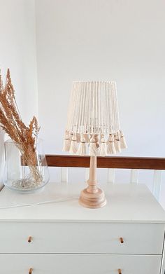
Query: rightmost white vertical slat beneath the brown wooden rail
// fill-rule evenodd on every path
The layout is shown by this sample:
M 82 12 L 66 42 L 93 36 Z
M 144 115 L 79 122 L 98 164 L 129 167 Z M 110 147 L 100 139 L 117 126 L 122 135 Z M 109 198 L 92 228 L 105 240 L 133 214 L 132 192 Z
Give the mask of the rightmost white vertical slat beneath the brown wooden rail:
M 162 186 L 162 170 L 154 170 L 152 193 L 159 201 Z

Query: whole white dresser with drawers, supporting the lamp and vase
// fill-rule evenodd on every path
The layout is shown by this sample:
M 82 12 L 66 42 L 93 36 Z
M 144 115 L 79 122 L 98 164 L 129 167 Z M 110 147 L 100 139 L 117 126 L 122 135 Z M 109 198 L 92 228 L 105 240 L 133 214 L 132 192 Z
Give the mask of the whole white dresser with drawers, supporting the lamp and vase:
M 0 273 L 164 274 L 162 207 L 143 184 L 101 187 L 108 203 L 97 210 L 78 205 L 82 184 L 3 188 L 0 207 L 59 201 L 0 210 Z

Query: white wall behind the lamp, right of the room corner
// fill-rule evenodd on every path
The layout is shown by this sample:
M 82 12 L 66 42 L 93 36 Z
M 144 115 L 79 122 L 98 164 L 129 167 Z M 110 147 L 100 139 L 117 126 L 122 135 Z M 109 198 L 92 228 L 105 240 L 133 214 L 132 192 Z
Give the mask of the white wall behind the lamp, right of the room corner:
M 127 156 L 164 157 L 164 0 L 36 0 L 41 135 L 62 153 L 71 82 L 117 81 Z

